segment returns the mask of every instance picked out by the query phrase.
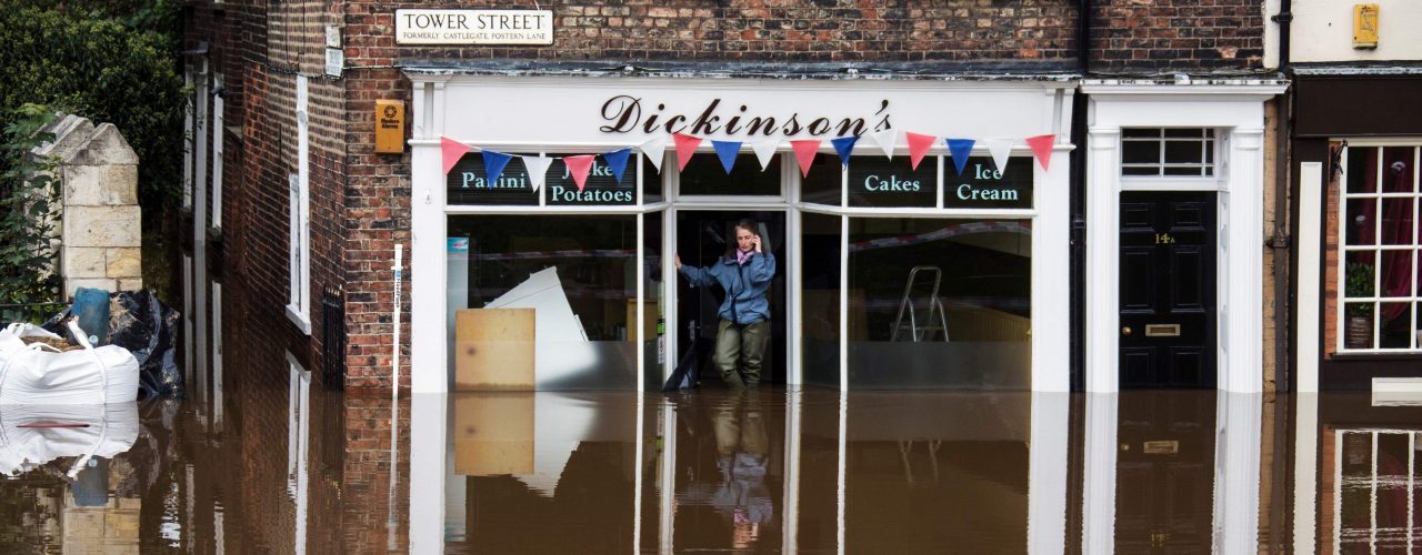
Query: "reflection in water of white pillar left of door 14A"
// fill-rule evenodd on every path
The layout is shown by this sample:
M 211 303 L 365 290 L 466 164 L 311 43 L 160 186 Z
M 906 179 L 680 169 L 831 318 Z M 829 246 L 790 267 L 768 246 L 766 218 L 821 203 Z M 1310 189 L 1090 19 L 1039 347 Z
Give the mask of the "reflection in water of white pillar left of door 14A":
M 1084 554 L 1111 555 L 1116 549 L 1116 393 L 1086 395 Z

